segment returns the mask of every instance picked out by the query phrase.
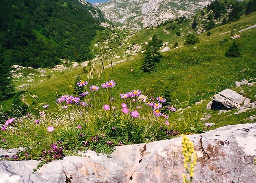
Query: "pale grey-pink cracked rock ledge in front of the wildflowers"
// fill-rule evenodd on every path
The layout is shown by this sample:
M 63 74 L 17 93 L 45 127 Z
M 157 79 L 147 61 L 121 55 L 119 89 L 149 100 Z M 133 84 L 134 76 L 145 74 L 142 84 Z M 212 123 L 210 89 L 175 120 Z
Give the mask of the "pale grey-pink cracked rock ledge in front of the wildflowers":
M 256 183 L 256 123 L 189 135 L 198 160 L 193 182 Z M 0 161 L 1 183 L 181 183 L 182 138 L 116 147 L 111 158 L 88 151 L 45 164 Z M 90 157 L 88 157 L 90 156 Z

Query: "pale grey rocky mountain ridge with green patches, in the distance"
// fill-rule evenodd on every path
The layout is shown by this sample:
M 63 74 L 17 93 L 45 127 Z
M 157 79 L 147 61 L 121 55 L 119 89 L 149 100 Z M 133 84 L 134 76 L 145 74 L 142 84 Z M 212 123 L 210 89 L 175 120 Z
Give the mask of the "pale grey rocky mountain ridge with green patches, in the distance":
M 180 16 L 192 17 L 213 0 L 110 0 L 95 3 L 117 27 L 139 30 Z

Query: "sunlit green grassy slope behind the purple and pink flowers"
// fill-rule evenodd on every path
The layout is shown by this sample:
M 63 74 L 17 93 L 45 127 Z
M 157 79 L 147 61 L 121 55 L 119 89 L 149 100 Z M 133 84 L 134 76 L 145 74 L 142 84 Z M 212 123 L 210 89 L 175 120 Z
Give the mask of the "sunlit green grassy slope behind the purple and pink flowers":
M 192 116 L 198 112 L 203 114 L 207 112 L 205 111 L 206 104 L 215 93 L 225 88 L 231 88 L 234 81 L 256 77 L 256 48 L 252 46 L 255 44 L 256 28 L 238 32 L 240 29 L 256 24 L 255 19 L 256 13 L 246 17 L 242 16 L 235 23 L 212 29 L 211 36 L 207 37 L 206 33 L 198 35 L 200 43 L 194 46 L 185 46 L 162 53 L 163 59 L 155 64 L 155 72 L 143 73 L 140 71 L 142 61 L 139 56 L 135 56 L 135 59 L 131 61 L 115 65 L 113 71 L 109 68 L 109 72 L 106 72 L 105 75 L 102 74 L 100 80 L 93 79 L 90 83 L 101 84 L 108 79 L 117 81 L 117 87 L 113 90 L 116 92 L 116 97 L 120 92 L 124 93 L 133 89 L 140 89 L 144 95 L 156 97 L 162 95 L 163 91 L 167 89 L 173 98 L 172 104 L 177 105 L 177 107 L 182 107 L 181 102 L 193 104 L 201 99 L 206 99 L 207 101 L 199 107 L 189 110 Z M 160 36 L 162 36 L 161 31 L 159 31 L 161 29 L 160 27 L 155 30 L 159 32 Z M 241 51 L 241 56 L 238 58 L 224 56 L 225 51 L 233 42 L 230 39 L 231 34 L 219 35 L 232 29 L 235 29 L 234 34 L 239 33 L 241 35 L 240 39 L 236 39 Z M 147 40 L 148 36 L 154 33 L 154 30 L 148 30 L 144 30 L 146 33 L 140 32 L 144 36 L 139 34 L 137 38 Z M 174 30 L 174 32 L 177 31 Z M 185 37 L 170 35 L 170 37 L 162 37 L 161 39 L 174 42 L 176 41 L 175 38 L 179 46 L 183 45 Z M 195 46 L 196 49 L 193 48 Z M 50 79 L 44 80 L 42 83 L 31 84 L 28 89 L 29 92 L 26 94 L 27 101 L 29 103 L 32 101 L 29 94 L 38 95 L 38 103 L 49 103 L 53 106 L 57 99 L 56 93 L 59 95 L 72 94 L 72 87 L 69 85 L 70 83 L 74 85 L 75 75 L 79 73 L 82 73 L 79 68 L 64 71 L 62 74 L 56 72 L 51 74 Z M 70 83 L 65 76 L 70 80 Z M 83 75 L 82 78 L 86 80 L 87 77 Z M 247 90 L 248 92 L 249 90 L 255 91 L 255 87 Z M 252 92 L 251 96 L 254 95 Z M 255 98 L 252 99 L 255 100 Z M 226 114 L 217 115 L 218 112 L 215 111 L 211 113 L 213 117 L 210 121 L 217 123 L 217 127 L 238 123 L 248 115 L 252 115 L 246 113 L 227 117 Z M 226 119 L 225 123 L 222 122 L 223 119 Z

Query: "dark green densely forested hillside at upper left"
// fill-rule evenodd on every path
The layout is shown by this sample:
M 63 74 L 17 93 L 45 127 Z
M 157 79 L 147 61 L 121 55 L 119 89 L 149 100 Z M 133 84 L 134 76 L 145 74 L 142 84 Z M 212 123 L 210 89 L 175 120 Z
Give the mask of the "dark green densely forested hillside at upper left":
M 1 0 L 0 60 L 44 68 L 60 58 L 91 58 L 91 40 L 103 27 L 89 10 L 78 0 Z

